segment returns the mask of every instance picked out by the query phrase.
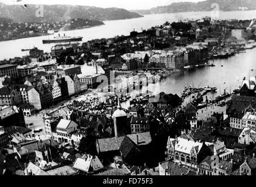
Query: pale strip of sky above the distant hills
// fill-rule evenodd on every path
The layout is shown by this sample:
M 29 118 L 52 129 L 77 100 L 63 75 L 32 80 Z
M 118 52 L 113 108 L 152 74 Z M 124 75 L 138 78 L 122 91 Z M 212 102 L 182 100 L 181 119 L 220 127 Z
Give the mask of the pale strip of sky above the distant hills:
M 0 0 L 5 4 L 13 4 L 17 0 Z M 182 0 L 23 0 L 26 4 L 64 4 L 64 5 L 87 5 L 101 8 L 124 8 L 127 10 L 150 9 L 156 6 L 170 5 L 172 2 Z M 199 2 L 205 0 L 183 0 L 186 2 Z

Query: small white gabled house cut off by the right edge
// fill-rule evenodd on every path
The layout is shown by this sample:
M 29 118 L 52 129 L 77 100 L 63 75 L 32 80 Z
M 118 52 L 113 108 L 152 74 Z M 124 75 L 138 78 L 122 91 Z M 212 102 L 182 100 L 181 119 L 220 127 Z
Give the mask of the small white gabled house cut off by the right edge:
M 250 128 L 244 127 L 243 131 L 238 137 L 238 143 L 250 145 L 256 143 L 256 131 Z

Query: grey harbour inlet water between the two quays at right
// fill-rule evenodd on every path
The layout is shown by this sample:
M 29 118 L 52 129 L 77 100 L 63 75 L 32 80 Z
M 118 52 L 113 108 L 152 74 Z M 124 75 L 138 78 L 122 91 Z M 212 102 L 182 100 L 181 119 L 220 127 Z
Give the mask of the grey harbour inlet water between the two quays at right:
M 233 92 L 241 85 L 243 78 L 256 76 L 256 49 L 236 54 L 227 59 L 210 60 L 215 67 L 204 67 L 171 75 L 161 82 L 161 91 L 181 95 L 185 86 L 203 88 L 207 85 L 218 88 L 216 94 Z M 223 65 L 223 67 L 222 67 Z M 252 71 L 253 70 L 253 71 Z

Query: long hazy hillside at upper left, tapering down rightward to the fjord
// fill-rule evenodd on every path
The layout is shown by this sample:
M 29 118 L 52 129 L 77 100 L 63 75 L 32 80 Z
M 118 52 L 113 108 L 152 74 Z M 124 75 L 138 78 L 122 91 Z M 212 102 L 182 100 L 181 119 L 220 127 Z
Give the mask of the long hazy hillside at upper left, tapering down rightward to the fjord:
M 43 17 L 39 17 L 36 16 L 39 9 L 38 5 L 33 4 L 28 4 L 27 9 L 24 9 L 21 5 L 0 2 L 0 17 L 10 18 L 15 22 L 59 22 L 77 18 L 104 21 L 143 17 L 126 9 L 82 5 L 43 5 Z

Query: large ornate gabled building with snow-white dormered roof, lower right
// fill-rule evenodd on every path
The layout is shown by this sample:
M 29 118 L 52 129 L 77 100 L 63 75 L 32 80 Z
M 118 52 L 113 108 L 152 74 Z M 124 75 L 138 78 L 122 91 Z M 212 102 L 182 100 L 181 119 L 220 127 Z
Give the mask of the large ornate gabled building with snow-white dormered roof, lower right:
M 210 154 L 210 148 L 205 143 L 179 137 L 168 138 L 167 158 L 174 159 L 175 163 L 197 168 L 198 164 Z

